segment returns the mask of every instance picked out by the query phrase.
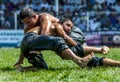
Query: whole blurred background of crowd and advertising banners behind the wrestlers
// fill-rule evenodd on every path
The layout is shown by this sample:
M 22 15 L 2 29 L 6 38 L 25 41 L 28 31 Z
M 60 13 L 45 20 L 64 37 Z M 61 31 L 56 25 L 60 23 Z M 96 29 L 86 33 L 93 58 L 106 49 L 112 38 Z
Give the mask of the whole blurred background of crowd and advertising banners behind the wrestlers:
M 120 47 L 120 0 L 0 0 L 0 47 L 20 46 L 24 25 L 18 15 L 23 7 L 69 17 L 88 45 Z

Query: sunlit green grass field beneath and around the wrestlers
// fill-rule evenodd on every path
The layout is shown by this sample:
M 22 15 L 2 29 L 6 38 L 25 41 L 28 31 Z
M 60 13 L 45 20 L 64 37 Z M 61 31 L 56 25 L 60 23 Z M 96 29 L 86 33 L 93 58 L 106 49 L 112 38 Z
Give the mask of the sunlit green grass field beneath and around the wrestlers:
M 120 82 L 118 67 L 81 69 L 70 60 L 62 60 L 52 51 L 43 52 L 49 70 L 20 73 L 13 67 L 19 53 L 20 50 L 15 48 L 0 49 L 0 82 Z M 111 48 L 105 57 L 120 60 L 119 48 Z M 30 64 L 25 60 L 24 66 L 27 65 Z

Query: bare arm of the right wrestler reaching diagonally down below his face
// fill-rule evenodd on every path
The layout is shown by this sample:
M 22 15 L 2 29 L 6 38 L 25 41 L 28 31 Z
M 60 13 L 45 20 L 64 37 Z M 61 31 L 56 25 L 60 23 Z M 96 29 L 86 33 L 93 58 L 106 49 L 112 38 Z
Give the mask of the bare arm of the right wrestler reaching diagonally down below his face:
M 71 46 L 77 45 L 77 43 L 65 33 L 63 27 L 59 23 L 54 24 L 54 26 L 58 36 L 64 38 L 64 40 Z

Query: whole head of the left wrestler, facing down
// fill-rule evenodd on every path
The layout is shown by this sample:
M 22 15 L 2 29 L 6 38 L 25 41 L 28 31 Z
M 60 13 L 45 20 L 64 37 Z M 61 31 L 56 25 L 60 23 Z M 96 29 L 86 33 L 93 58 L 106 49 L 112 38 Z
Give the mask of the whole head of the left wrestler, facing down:
M 38 20 L 38 15 L 31 8 L 23 8 L 20 11 L 20 19 L 26 27 L 32 27 Z

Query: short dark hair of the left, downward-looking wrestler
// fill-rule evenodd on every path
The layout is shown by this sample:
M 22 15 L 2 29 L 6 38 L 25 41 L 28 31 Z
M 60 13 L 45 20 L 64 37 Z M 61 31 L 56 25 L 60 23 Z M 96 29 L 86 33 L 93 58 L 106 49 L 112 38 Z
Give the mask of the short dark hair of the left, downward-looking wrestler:
M 20 19 L 24 19 L 25 17 L 32 17 L 33 14 L 36 14 L 36 12 L 32 8 L 23 8 L 20 11 Z

